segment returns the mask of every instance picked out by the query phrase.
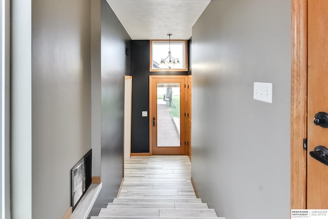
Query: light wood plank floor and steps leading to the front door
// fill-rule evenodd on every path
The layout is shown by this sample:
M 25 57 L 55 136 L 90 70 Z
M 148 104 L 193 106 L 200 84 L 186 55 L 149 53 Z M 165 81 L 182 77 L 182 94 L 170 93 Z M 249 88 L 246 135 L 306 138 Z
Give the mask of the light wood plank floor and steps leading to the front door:
M 196 197 L 188 156 L 134 156 L 124 175 L 117 198 L 91 219 L 224 219 Z

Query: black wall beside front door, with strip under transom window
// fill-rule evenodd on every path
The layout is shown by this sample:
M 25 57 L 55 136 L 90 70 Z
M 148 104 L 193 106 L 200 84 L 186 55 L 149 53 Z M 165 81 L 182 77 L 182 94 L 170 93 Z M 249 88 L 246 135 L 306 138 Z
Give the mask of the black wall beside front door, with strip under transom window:
M 138 40 L 131 43 L 132 55 L 132 124 L 131 153 L 149 153 L 149 75 L 188 75 L 188 72 L 150 72 L 150 41 Z

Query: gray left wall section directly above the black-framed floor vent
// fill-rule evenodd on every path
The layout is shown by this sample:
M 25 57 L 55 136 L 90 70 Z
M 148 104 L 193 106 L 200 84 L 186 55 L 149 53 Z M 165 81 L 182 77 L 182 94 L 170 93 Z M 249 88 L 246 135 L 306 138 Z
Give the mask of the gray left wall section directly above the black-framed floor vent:
M 88 0 L 32 1 L 32 218 L 63 217 L 91 149 L 90 13 Z

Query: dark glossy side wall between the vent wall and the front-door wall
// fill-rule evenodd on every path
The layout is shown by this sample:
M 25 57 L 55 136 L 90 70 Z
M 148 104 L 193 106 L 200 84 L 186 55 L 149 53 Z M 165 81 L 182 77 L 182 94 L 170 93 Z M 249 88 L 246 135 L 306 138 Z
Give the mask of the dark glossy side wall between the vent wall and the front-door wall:
M 124 76 L 131 75 L 131 38 L 106 2 L 101 21 L 101 189 L 89 216 L 96 216 L 117 196 L 123 178 Z M 94 72 L 92 72 L 94 73 Z

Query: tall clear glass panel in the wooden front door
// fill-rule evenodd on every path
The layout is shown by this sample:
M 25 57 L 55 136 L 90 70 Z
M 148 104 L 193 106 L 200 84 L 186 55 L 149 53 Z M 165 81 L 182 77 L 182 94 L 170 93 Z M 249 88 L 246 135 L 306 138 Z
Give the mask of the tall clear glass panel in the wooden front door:
M 157 147 L 180 147 L 180 84 L 157 83 Z

